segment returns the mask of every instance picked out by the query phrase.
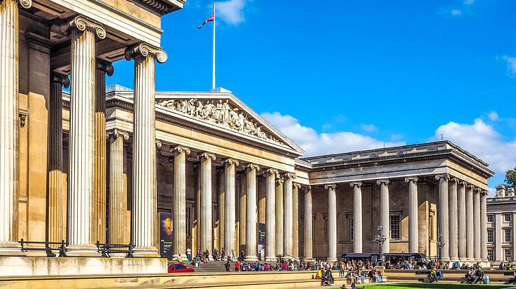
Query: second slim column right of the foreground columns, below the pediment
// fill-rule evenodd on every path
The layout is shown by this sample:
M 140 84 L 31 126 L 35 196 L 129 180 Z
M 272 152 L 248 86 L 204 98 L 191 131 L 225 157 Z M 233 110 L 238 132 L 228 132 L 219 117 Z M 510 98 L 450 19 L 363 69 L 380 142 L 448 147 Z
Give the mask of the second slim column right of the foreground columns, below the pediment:
M 205 152 L 199 154 L 201 160 L 201 211 L 199 222 L 199 247 L 201 252 L 213 250 L 212 234 L 212 211 L 211 211 L 211 161 L 216 159 L 215 154 Z M 210 257 L 211 258 L 211 257 Z

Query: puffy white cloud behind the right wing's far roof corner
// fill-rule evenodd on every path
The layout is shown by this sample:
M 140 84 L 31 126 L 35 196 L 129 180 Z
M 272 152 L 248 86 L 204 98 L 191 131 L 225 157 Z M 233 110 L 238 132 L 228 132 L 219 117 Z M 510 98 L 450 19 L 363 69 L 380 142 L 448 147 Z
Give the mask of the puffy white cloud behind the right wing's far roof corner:
M 516 140 L 505 141 L 491 125 L 476 118 L 473 124 L 450 121 L 435 130 L 440 135 L 490 164 L 491 170 L 503 174 L 516 165 Z

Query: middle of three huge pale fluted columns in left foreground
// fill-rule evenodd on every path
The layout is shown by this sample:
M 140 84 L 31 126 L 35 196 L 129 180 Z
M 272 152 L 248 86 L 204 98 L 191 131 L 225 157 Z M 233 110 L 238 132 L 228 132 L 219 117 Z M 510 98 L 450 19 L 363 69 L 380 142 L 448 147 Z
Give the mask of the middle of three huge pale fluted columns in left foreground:
M 69 142 L 69 256 L 98 256 L 93 235 L 95 184 L 95 35 L 102 25 L 77 16 L 61 26 L 71 30 L 71 93 Z

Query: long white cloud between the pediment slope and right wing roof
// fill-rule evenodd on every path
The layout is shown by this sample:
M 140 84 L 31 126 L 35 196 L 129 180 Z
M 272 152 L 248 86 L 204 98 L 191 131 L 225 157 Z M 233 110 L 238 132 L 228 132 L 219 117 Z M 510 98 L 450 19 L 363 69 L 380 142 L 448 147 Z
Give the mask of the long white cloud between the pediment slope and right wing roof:
M 313 128 L 301 125 L 293 116 L 281 113 L 262 113 L 271 125 L 305 149 L 305 156 L 353 152 L 363 149 L 377 149 L 404 145 L 405 142 L 382 142 L 367 135 L 351 132 L 317 133 Z

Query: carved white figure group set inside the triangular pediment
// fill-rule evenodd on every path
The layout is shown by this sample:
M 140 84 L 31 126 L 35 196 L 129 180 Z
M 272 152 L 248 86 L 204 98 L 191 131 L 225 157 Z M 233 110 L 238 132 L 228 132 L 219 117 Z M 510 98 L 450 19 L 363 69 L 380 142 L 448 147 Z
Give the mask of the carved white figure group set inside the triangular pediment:
M 215 123 L 240 133 L 281 144 L 278 138 L 266 132 L 262 125 L 259 125 L 245 111 L 230 104 L 228 99 L 208 99 L 205 101 L 201 99 L 165 99 L 158 100 L 156 103 L 192 118 Z

